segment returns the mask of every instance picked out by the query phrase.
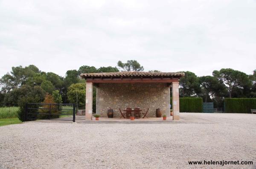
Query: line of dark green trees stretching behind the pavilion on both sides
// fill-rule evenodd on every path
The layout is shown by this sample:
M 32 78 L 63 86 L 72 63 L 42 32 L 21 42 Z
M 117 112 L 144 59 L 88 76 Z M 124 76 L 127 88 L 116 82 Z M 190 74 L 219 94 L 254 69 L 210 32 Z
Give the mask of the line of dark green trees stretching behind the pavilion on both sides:
M 78 70 L 67 70 L 64 77 L 53 72 L 41 71 L 35 65 L 24 68 L 12 67 L 12 70 L 0 79 L 0 106 L 17 106 L 17 100 L 28 93 L 37 96 L 38 100 L 44 100 L 44 96 L 41 95 L 52 94 L 55 90 L 59 91 L 63 103 L 69 103 L 74 100 L 68 99 L 67 96 L 70 85 L 85 82 L 79 76 L 81 73 L 144 70 L 136 60 L 129 60 L 126 63 L 119 61 L 117 66 L 119 68 L 95 68 L 85 65 Z M 204 102 L 214 102 L 215 107 L 223 107 L 224 98 L 256 98 L 256 70 L 252 75 L 230 68 L 214 70 L 212 76 L 199 77 L 189 71 L 184 73 L 185 76 L 180 79 L 180 97 L 202 97 Z

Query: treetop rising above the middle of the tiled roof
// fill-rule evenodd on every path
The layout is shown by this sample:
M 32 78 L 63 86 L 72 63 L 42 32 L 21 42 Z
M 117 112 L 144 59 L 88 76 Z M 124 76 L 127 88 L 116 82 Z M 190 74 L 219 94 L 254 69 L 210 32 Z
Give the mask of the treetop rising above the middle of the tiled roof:
M 136 60 L 128 60 L 126 63 L 122 63 L 120 60 L 117 62 L 117 66 L 125 71 L 143 71 L 143 66 Z

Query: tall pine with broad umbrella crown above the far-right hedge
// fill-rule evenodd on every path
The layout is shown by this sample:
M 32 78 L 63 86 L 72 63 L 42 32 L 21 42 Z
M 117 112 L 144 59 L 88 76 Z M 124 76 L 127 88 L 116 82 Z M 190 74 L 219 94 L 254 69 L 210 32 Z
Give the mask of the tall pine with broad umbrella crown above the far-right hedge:
M 212 75 L 225 85 L 229 92 L 229 97 L 232 97 L 233 92 L 236 90 L 243 90 L 245 86 L 251 86 L 251 82 L 247 74 L 233 69 L 221 69 L 220 71 L 214 70 Z

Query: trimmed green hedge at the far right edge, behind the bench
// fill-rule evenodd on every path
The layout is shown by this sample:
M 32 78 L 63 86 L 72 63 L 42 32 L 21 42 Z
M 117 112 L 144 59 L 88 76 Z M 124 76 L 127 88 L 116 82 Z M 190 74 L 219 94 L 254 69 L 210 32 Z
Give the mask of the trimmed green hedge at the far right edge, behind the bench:
M 251 113 L 256 109 L 256 99 L 225 98 L 225 113 Z

